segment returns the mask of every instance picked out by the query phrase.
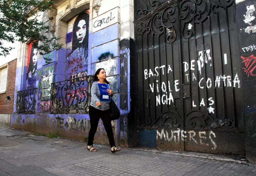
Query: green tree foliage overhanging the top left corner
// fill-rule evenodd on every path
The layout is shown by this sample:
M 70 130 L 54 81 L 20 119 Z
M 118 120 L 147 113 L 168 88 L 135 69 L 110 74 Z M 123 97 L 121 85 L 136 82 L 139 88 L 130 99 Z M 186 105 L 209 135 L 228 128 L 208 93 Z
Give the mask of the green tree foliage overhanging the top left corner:
M 51 9 L 53 1 L 45 0 L 1 0 L 0 1 L 0 41 L 14 43 L 39 41 L 42 43 L 35 48 L 44 55 L 53 50 L 59 50 L 63 44 L 59 44 L 59 37 L 47 36 L 50 27 L 45 22 L 40 22 L 35 18 L 37 14 Z M 35 8 L 36 7 L 36 8 Z M 17 39 L 16 39 L 16 38 Z M 55 42 L 53 42 L 55 41 Z M 53 43 L 50 45 L 50 43 Z M 0 55 L 7 56 L 12 48 L 6 48 L 0 42 Z M 47 62 L 50 59 L 44 58 Z

